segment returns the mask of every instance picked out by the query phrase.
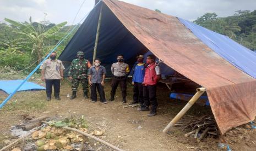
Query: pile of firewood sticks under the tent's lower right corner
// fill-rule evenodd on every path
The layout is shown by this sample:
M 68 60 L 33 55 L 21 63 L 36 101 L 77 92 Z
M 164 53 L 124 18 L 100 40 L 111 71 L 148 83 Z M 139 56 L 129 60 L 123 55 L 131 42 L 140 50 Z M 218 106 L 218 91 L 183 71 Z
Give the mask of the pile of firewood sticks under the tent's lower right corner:
M 192 117 L 188 116 L 189 119 L 180 120 L 175 124 L 181 126 L 183 130 L 190 132 L 185 134 L 185 137 L 194 137 L 198 141 L 202 140 L 206 136 L 213 135 L 217 136 L 217 126 L 214 117 L 211 115 L 204 115 L 203 117 Z

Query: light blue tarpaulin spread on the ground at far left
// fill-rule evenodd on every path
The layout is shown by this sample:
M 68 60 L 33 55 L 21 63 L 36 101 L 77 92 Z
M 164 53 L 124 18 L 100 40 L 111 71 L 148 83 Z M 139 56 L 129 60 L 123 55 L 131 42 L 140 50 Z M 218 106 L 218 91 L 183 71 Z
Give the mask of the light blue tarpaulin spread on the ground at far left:
M 0 80 L 0 89 L 11 94 L 23 80 Z M 18 91 L 25 90 L 45 90 L 45 87 L 32 82 L 25 82 Z

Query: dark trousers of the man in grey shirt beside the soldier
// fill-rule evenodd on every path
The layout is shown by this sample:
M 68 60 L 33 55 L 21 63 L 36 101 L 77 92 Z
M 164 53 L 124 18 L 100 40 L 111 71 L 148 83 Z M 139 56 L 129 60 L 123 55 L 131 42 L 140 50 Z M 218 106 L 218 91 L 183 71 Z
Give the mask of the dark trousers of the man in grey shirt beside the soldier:
M 100 101 L 105 102 L 105 92 L 104 92 L 104 87 L 100 83 L 92 83 L 91 86 L 91 100 L 92 101 L 97 101 L 97 91 L 99 92 L 100 95 Z

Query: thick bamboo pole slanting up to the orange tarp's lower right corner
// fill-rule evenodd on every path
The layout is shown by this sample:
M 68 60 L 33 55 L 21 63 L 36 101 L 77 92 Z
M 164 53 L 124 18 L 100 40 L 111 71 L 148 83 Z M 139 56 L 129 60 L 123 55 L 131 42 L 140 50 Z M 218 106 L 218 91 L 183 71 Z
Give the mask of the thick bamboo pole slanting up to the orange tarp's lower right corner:
M 179 111 L 179 113 L 175 116 L 175 118 L 172 119 L 172 121 L 165 127 L 165 129 L 163 130 L 164 133 L 167 133 L 169 129 L 171 129 L 172 126 L 174 126 L 177 121 L 179 121 L 183 115 L 189 110 L 190 107 L 193 106 L 193 104 L 195 103 L 195 101 L 198 100 L 198 98 L 206 91 L 205 88 L 198 88 L 197 89 L 197 93 L 188 101 L 188 103 L 186 104 L 186 106 L 184 106 L 182 108 L 181 111 Z

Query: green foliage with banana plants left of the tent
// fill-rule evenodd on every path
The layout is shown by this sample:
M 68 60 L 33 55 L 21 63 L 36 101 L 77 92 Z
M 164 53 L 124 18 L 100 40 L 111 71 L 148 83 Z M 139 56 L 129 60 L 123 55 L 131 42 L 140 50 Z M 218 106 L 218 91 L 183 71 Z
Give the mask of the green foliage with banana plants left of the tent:
M 17 22 L 5 19 L 0 23 L 0 73 L 28 73 L 45 55 L 76 25 L 65 26 L 67 22 L 52 24 L 48 21 Z M 79 27 L 79 26 L 78 26 Z M 78 27 L 59 45 L 57 54 L 72 38 Z

